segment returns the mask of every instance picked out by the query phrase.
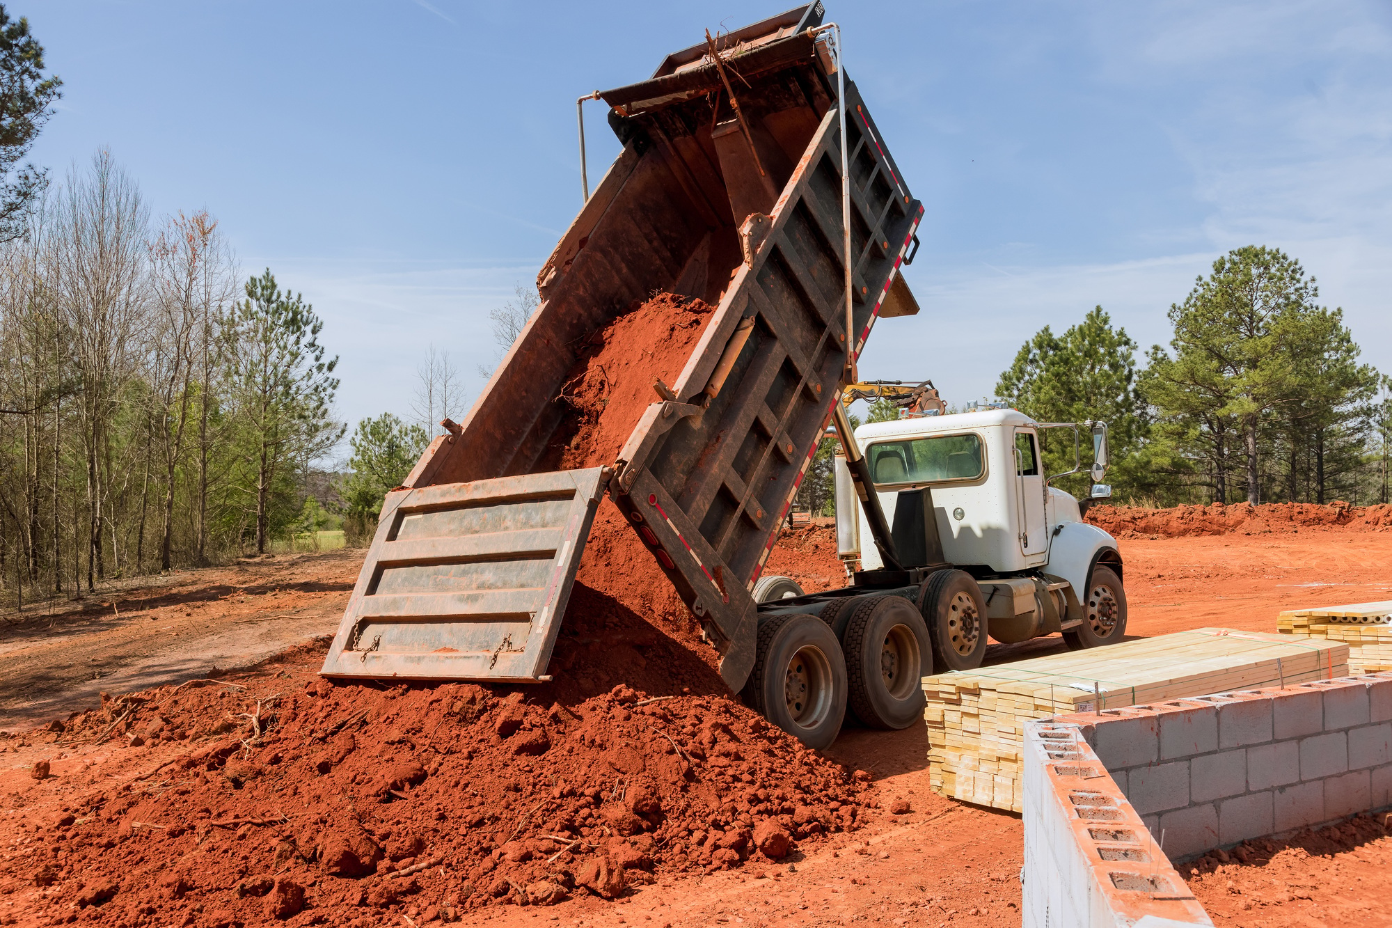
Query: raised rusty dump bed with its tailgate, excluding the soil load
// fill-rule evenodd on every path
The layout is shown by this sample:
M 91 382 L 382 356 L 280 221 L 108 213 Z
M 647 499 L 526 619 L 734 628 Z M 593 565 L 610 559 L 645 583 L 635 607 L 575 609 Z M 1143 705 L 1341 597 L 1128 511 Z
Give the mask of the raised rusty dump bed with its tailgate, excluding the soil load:
M 601 93 L 624 150 L 537 277 L 541 304 L 457 435 L 388 493 L 324 673 L 537 680 L 608 492 L 721 651 L 753 665 L 750 589 L 841 390 L 841 127 L 821 4 Z M 922 208 L 846 79 L 855 325 L 917 311 Z M 576 350 L 654 291 L 717 305 L 611 467 L 547 471 Z

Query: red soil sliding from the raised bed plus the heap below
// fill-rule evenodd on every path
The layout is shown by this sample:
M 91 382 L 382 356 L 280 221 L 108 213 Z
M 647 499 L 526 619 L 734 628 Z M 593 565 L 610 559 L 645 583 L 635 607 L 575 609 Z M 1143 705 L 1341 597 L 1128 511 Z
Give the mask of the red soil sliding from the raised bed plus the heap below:
M 710 312 L 661 294 L 594 333 L 558 400 L 572 419 L 555 464 L 611 464 Z M 60 740 L 160 750 L 118 787 L 74 783 L 33 826 L 32 869 L 10 879 L 38 885 L 47 915 L 113 927 L 422 924 L 784 860 L 878 805 L 867 773 L 731 697 L 607 499 L 554 683 L 335 684 L 317 660 L 70 719 Z

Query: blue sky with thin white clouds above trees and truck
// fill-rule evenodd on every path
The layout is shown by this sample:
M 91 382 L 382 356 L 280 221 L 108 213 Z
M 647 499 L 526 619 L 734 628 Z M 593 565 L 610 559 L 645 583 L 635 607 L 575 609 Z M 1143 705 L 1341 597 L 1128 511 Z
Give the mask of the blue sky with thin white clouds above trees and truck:
M 409 412 L 432 343 L 469 397 L 487 312 L 580 205 L 579 93 L 782 3 L 10 3 L 63 77 L 35 159 L 100 146 L 159 216 L 206 208 L 245 273 L 326 319 L 338 415 Z M 866 376 L 990 394 L 1101 304 L 1143 346 L 1229 248 L 1299 258 L 1392 372 L 1392 4 L 835 3 L 927 216 Z M 590 176 L 617 155 L 590 105 Z M 891 329 L 891 325 L 894 326 Z

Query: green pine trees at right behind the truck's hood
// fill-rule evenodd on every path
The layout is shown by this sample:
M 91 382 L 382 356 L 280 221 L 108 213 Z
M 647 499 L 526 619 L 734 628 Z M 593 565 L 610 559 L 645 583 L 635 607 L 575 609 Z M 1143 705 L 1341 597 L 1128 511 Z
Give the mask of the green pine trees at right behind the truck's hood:
M 1097 307 L 1026 341 L 997 396 L 1041 421 L 1105 421 L 1119 502 L 1386 503 L 1389 380 L 1318 295 L 1282 251 L 1236 248 L 1169 307 L 1169 344 L 1144 364 Z M 1065 458 L 1070 443 L 1045 451 L 1051 471 Z

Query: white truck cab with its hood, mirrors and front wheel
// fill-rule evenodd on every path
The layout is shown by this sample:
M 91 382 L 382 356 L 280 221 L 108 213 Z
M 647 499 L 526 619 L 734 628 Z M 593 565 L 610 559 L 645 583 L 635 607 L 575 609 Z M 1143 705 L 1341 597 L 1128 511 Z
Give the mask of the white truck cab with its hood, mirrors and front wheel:
M 1086 424 L 1091 426 L 1093 424 Z M 862 425 L 855 431 L 887 523 L 901 492 L 928 488 L 942 559 L 974 578 L 959 594 L 965 623 L 948 669 L 980 662 L 983 631 L 1002 642 L 1062 631 L 1070 647 L 1111 644 L 1125 634 L 1126 599 L 1116 541 L 1082 520 L 1077 500 L 1050 486 L 1040 456 L 1041 424 L 1015 410 L 990 408 Z M 1105 467 L 1105 426 L 1093 428 Z M 1075 468 L 1076 471 L 1076 468 Z M 1068 471 L 1068 472 L 1075 472 Z M 842 457 L 837 458 L 837 539 L 848 570 L 883 567 L 864 507 Z M 1094 497 L 1109 495 L 1104 485 Z M 866 539 L 867 543 L 862 543 Z M 948 606 L 945 606 L 948 608 Z M 949 609 L 951 610 L 951 609 Z M 979 613 L 979 614 L 973 614 Z M 954 656 L 962 658 L 962 667 Z

